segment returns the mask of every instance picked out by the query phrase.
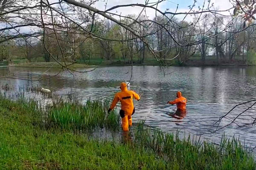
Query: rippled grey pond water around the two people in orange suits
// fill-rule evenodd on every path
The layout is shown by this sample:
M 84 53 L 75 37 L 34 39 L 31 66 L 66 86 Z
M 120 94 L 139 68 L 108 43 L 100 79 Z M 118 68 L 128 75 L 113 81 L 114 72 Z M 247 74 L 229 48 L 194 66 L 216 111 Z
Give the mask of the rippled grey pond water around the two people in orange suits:
M 88 73 L 60 72 L 59 70 L 37 68 L 0 68 L 0 77 L 16 73 L 19 79 L 0 79 L 1 84 L 8 83 L 15 86 L 35 85 L 54 89 L 58 95 L 65 95 L 72 91 L 79 98 L 110 98 L 119 91 L 119 83 L 130 79 L 129 67 L 98 68 Z M 131 71 L 131 70 L 130 70 Z M 41 74 L 44 72 L 43 74 Z M 136 113 L 133 120 L 145 120 L 152 127 L 159 127 L 164 131 L 177 129 L 192 134 L 209 133 L 219 117 L 226 114 L 236 104 L 255 99 L 256 68 L 237 67 L 169 67 L 164 77 L 159 67 L 134 66 L 130 89 L 143 91 L 142 99 L 134 101 Z M 30 77 L 30 78 L 26 78 Z M 31 78 L 33 77 L 33 78 Z M 51 79 L 49 79 L 51 77 Z M 42 81 L 27 81 L 42 78 Z M 141 92 L 140 90 L 140 92 Z M 175 114 L 176 107 L 166 104 L 181 91 L 187 98 L 187 113 Z M 220 123 L 225 126 L 232 118 L 250 106 L 242 105 L 234 110 L 227 119 Z M 118 105 L 118 109 L 120 106 Z M 252 108 L 245 112 L 236 123 L 248 123 L 256 117 Z M 167 114 L 168 113 L 168 114 Z M 253 117 L 253 118 L 252 118 Z M 177 119 L 182 118 L 182 119 Z M 227 136 L 240 135 L 240 139 L 253 145 L 256 136 L 255 127 L 236 128 L 235 124 L 216 133 L 204 135 L 205 138 L 216 141 L 225 131 Z

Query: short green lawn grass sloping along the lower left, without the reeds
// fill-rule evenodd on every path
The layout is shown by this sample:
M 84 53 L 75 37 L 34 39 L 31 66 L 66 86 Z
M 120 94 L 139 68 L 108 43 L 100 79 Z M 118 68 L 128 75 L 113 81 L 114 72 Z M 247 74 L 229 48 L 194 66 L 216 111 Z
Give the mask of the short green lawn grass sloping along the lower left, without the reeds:
M 1 99 L 0 169 L 167 169 L 168 164 L 154 153 L 56 128 L 42 129 L 27 109 Z

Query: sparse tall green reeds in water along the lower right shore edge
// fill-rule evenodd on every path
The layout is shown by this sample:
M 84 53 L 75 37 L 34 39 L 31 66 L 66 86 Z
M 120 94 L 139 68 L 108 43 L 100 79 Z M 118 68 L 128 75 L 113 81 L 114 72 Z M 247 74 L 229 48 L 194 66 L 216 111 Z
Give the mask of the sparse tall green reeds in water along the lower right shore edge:
M 163 133 L 138 124 L 135 142 L 140 149 L 155 151 L 173 169 L 255 169 L 254 155 L 244 148 L 237 138 L 223 135 L 220 144 L 209 143 L 189 135 L 180 139 L 179 134 Z

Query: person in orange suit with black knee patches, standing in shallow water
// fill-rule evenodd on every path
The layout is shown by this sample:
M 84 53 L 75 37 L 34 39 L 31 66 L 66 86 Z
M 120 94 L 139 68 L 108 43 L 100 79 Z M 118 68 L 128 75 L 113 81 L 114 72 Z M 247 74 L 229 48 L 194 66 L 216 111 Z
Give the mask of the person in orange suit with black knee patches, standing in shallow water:
M 120 116 L 122 118 L 122 128 L 124 131 L 128 131 L 129 126 L 132 126 L 132 115 L 135 112 L 135 108 L 133 106 L 133 98 L 139 101 L 140 96 L 134 91 L 127 90 L 126 83 L 121 83 L 120 89 L 121 92 L 116 93 L 108 112 L 111 112 L 111 110 L 115 108 L 117 102 L 120 101 Z

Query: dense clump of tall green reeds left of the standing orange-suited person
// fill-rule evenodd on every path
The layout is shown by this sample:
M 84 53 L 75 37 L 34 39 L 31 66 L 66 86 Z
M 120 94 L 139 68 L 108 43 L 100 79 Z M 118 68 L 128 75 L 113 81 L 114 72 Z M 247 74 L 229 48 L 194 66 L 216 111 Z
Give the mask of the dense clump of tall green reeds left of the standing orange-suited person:
M 107 114 L 109 101 L 87 100 L 85 105 L 72 99 L 68 102 L 58 100 L 48 111 L 50 122 L 66 129 L 92 131 L 95 128 L 117 130 L 120 127 L 119 115 L 112 111 Z

